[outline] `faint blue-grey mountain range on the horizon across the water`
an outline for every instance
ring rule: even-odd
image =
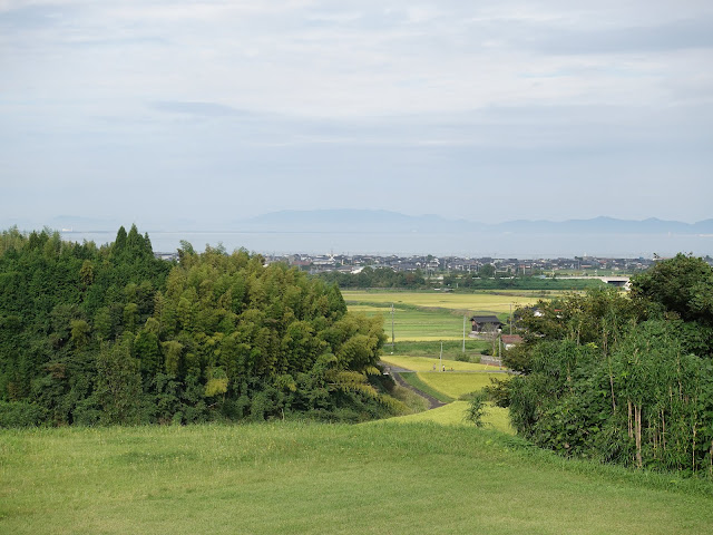
[[[231,230],[250,232],[492,232],[517,234],[713,234],[713,218],[697,223],[647,220],[528,221],[481,223],[439,215],[404,215],[384,210],[281,211],[233,222]]]

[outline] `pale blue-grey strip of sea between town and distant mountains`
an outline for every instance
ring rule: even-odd
[[[114,231],[61,231],[62,239],[97,245],[116,239]],[[222,245],[227,252],[252,253],[374,254],[381,256],[428,255],[494,259],[668,257],[676,253],[713,256],[713,234],[522,234],[522,233],[428,233],[428,232],[221,232],[150,231],[155,252],[170,253],[180,242],[195,251]]]

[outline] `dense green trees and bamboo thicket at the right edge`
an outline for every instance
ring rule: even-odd
[[[713,475],[713,269],[680,254],[632,283],[519,311],[521,374],[491,393],[541,447]]]

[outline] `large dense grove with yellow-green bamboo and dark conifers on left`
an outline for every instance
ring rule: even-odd
[[[246,251],[0,234],[0,426],[398,414],[381,319],[336,285]]]

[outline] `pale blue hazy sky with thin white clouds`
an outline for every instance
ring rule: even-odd
[[[0,220],[713,217],[710,0],[0,0]]]

